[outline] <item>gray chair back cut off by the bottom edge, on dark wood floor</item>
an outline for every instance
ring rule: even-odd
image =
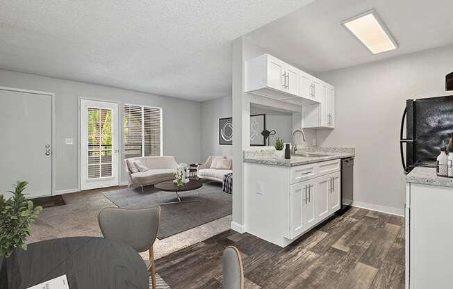
[[[229,246],[223,251],[223,289],[244,289],[244,268],[236,247]]]

